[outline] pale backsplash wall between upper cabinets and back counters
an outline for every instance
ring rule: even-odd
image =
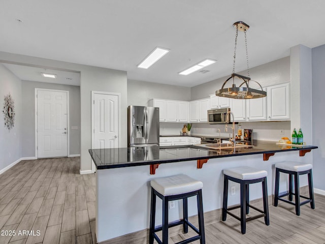
[[[185,123],[184,123],[185,124]],[[160,123],[160,135],[180,135],[183,128],[182,123]],[[253,130],[253,139],[278,141],[281,137],[291,138],[290,121],[268,121],[268,122],[241,122],[243,129]],[[193,123],[191,134],[202,136],[219,136],[217,129],[223,137],[232,136],[232,129],[225,132],[224,125],[209,125],[207,123]],[[236,134],[238,125],[235,125]],[[284,130],[284,134],[281,134]]]

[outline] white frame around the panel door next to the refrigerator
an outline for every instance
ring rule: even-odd
[[[112,92],[99,92],[96,90],[91,91],[91,149],[93,149],[94,145],[94,125],[95,125],[95,118],[94,118],[94,98],[95,94],[103,94],[103,95],[113,95],[117,96],[117,102],[118,102],[118,147],[121,147],[121,94],[120,93],[112,93]],[[94,173],[96,171],[96,167],[91,160],[91,171]]]

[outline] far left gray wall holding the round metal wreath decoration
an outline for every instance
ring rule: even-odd
[[[11,94],[15,106],[15,124],[5,127],[3,108],[5,95]],[[0,64],[0,171],[21,158],[21,80]]]

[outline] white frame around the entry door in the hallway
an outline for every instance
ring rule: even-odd
[[[37,93],[39,90],[46,90],[48,92],[60,92],[60,93],[66,93],[67,94],[67,157],[70,156],[70,111],[69,111],[69,90],[56,90],[56,89],[46,89],[46,88],[35,88],[35,158],[38,159],[38,98]]]

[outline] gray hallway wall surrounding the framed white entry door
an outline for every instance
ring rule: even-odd
[[[22,156],[35,157],[35,88],[68,90],[70,120],[70,155],[80,154],[80,88],[75,85],[22,81]],[[78,126],[78,130],[71,130]]]

